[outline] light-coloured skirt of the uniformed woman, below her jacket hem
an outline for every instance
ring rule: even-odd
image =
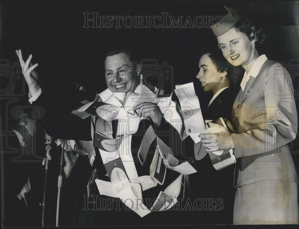
[[[298,224],[298,184],[259,181],[237,187],[234,224]]]

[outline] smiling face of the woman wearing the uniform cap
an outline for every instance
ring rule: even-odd
[[[217,37],[225,59],[234,66],[248,65],[254,59],[254,42],[234,27]]]

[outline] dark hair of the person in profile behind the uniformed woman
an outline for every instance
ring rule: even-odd
[[[208,56],[216,66],[217,71],[227,72],[226,77],[228,78],[230,87],[238,87],[240,85],[242,74],[244,74],[244,70],[241,66],[235,67],[231,65],[219,51],[211,52]]]

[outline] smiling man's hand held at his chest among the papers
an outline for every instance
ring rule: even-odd
[[[155,103],[140,103],[134,110],[139,110],[138,117],[144,117],[147,120],[152,120],[158,127],[160,126],[162,115],[160,109]]]

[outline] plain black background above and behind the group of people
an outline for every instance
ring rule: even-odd
[[[107,88],[104,55],[113,47],[129,47],[140,59],[157,59],[160,65],[167,62],[173,67],[174,84],[194,81],[196,92],[202,94],[195,78],[198,61],[202,54],[217,48],[217,40],[210,28],[83,28],[83,13],[162,16],[162,12],[167,12],[175,18],[183,16],[184,21],[187,16],[191,19],[198,15],[224,16],[227,14],[224,5],[245,13],[263,29],[266,40],[261,54],[285,62],[287,66],[292,60],[293,65],[288,70],[299,106],[298,2],[295,1],[1,4],[0,58],[13,65],[13,62],[18,62],[16,49],[22,49],[24,59],[33,54],[32,62],[39,63],[39,84],[57,111],[70,111],[78,102],[73,81],[95,93]],[[1,77],[0,80],[0,89],[3,89],[7,79]],[[168,82],[165,84],[174,88]],[[25,96],[18,98],[21,103],[29,105],[27,94],[25,85]],[[3,103],[1,109],[5,111]],[[1,115],[2,125],[10,122],[9,115],[5,117],[5,112]],[[298,139],[292,149],[298,151]],[[193,145],[190,150],[193,150]],[[294,153],[293,157],[298,168],[298,154]],[[194,222],[201,224],[200,220]],[[213,219],[210,223],[213,224]]]

